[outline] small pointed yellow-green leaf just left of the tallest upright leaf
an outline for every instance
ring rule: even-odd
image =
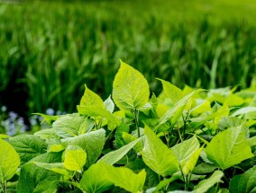
[[[86,90],[84,95],[82,96],[82,99],[80,101],[80,106],[81,107],[86,107],[86,106],[99,106],[102,108],[105,108],[104,102],[100,98],[99,95],[97,95],[95,92],[92,92],[87,88],[87,85],[85,85]]]

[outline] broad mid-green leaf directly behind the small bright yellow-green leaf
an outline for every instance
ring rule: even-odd
[[[102,128],[81,136],[69,137],[61,141],[67,146],[78,145],[82,147],[87,153],[86,166],[88,167],[96,162],[97,158],[101,154],[101,151],[105,145],[105,130]]]

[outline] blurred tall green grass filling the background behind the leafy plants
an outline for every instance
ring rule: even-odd
[[[76,110],[84,84],[106,99],[119,59],[159,93],[246,88],[256,74],[254,0],[0,1],[0,106]]]

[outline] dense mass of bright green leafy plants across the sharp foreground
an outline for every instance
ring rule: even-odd
[[[159,81],[156,96],[121,61],[105,101],[86,86],[77,113],[1,135],[2,191],[255,192],[255,80],[241,92]]]

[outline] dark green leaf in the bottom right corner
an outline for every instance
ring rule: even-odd
[[[231,193],[253,193],[256,192],[256,166],[241,175],[236,175],[230,181]]]

